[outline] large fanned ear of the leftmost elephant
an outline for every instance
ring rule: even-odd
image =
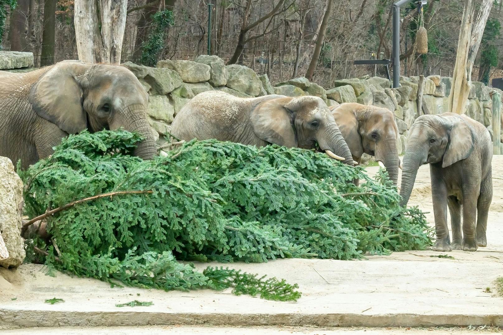
[[[82,108],[83,92],[78,76],[90,67],[76,61],[54,65],[30,90],[28,100],[35,112],[69,134],[86,129],[87,117]]]

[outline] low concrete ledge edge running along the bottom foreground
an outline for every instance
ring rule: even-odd
[[[79,312],[0,309],[4,329],[58,326],[143,326],[173,324],[204,325],[291,325],[340,327],[431,327],[503,326],[503,314],[238,314],[238,313],[163,313],[163,312]]]

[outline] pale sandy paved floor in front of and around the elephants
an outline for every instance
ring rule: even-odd
[[[186,333],[197,333],[196,330],[212,333],[211,329],[216,329],[214,333],[259,333],[253,326],[269,326],[273,327],[271,331],[263,329],[260,332],[346,334],[365,330],[366,334],[415,335],[429,330],[398,329],[398,332],[390,332],[386,329],[323,328],[323,331],[318,332],[275,326],[503,326],[503,298],[496,295],[494,285],[495,279],[503,276],[503,225],[500,223],[503,216],[503,175],[498,175],[500,169],[497,168],[502,164],[503,156],[493,158],[494,196],[487,227],[488,247],[479,248],[473,253],[454,250],[449,253],[454,260],[432,258],[430,256],[441,253],[426,250],[369,256],[366,261],[289,259],[265,264],[225,265],[298,283],[303,294],[296,303],[238,297],[229,290],[163,292],[130,287],[111,288],[109,284],[95,279],[71,278],[63,274],[45,276],[41,266],[28,264],[13,271],[0,270],[0,329],[54,325],[102,327],[186,324],[196,325],[196,328],[189,327],[192,330]],[[369,167],[368,171],[374,174],[377,169]],[[429,185],[429,167],[422,166],[410,203],[430,212],[427,217],[433,222]],[[200,264],[198,267],[207,265]],[[485,292],[486,288],[490,292]],[[45,299],[53,297],[62,298],[65,302],[55,305],[44,303]],[[14,298],[16,300],[12,300]],[[134,299],[152,301],[153,305],[115,307],[115,304]],[[224,328],[200,327],[219,324],[234,327],[226,327],[226,332],[221,332]],[[152,328],[148,332],[155,334],[156,331],[170,329],[176,334],[189,329],[184,327]],[[71,328],[69,332],[59,333],[86,333],[79,329],[83,328]],[[105,331],[100,329],[88,333],[105,333],[100,332]],[[121,332],[119,329],[124,328],[113,332],[134,333],[129,330]],[[137,333],[143,333],[150,328],[137,329],[142,329]],[[233,329],[237,330],[233,332]],[[21,332],[8,333],[41,334],[45,330],[23,329],[19,330]],[[467,333],[467,330],[459,329],[445,331],[438,333]]]

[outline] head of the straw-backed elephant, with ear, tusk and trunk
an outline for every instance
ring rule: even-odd
[[[251,111],[250,121],[255,135],[266,142],[317,148],[354,165],[351,151],[321,98],[267,96]]]

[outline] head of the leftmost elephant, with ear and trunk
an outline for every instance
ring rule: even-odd
[[[122,127],[143,137],[135,155],[150,159],[156,153],[145,112],[148,95],[123,66],[57,63],[34,83],[28,99],[40,117],[68,134]]]

